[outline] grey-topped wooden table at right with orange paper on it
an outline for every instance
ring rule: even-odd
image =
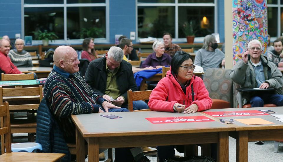
[[[243,110],[272,110],[283,114],[283,107],[254,107],[254,108],[239,108],[239,109],[210,109],[205,112],[213,111],[243,111]],[[226,116],[217,117],[218,119],[233,119],[234,124],[228,124],[236,128],[236,132],[229,132],[229,135],[236,139],[236,161],[248,161],[248,141],[265,141],[265,140],[282,140],[283,139],[283,122],[280,122],[271,115],[260,116]],[[235,119],[246,118],[261,118],[275,124],[261,124],[261,125],[246,125]]]

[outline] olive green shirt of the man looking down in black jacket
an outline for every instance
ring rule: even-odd
[[[107,79],[106,79],[105,94],[112,97],[113,99],[117,99],[119,96],[121,96],[121,93],[120,93],[120,90],[119,90],[119,87],[116,81],[116,78],[117,78],[116,73],[119,68],[120,66],[118,68],[115,68],[114,70],[110,70],[106,63]],[[122,97],[124,99],[124,96]]]

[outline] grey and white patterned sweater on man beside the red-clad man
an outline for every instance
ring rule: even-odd
[[[22,50],[22,52],[18,52],[16,49],[10,50],[8,56],[18,68],[32,67],[32,56],[25,50]]]

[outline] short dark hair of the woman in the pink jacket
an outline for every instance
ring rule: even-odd
[[[177,51],[171,60],[171,73],[177,74],[179,67],[185,60],[192,59],[192,56],[184,51]],[[192,59],[192,62],[194,60]]]

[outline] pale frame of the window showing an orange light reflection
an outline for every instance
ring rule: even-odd
[[[178,8],[179,6],[195,6],[195,7],[214,7],[214,32],[218,32],[218,4],[217,0],[214,0],[214,3],[178,3],[178,0],[175,0],[175,3],[140,3],[136,0],[136,42],[139,42],[139,32],[138,32],[138,7],[139,6],[175,6],[175,38],[172,39],[173,42],[187,42],[186,38],[179,38],[178,31]],[[195,37],[195,42],[203,42],[204,37]],[[157,38],[158,40],[162,40],[162,38]]]

